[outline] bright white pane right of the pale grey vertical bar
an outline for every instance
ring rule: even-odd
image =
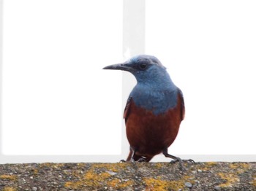
[[[185,98],[173,153],[256,154],[255,10],[255,1],[146,1],[146,53]]]

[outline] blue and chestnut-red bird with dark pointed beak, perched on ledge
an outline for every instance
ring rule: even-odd
[[[154,55],[135,55],[103,69],[129,71],[137,80],[124,109],[130,150],[126,161],[149,162],[162,153],[171,162],[178,161],[183,170],[183,160],[167,149],[184,120],[184,96],[165,66]]]

